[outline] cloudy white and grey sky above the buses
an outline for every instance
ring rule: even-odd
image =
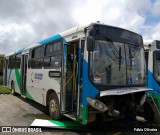
[[[96,21],[160,40],[160,0],[0,0],[0,54]]]

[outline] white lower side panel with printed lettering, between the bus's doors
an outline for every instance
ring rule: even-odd
[[[54,69],[28,69],[27,91],[33,100],[46,106],[48,90],[54,90],[60,99],[60,78],[49,78]],[[59,70],[56,70],[59,71]]]

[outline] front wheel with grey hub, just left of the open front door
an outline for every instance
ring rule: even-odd
[[[53,119],[55,120],[60,119],[61,117],[60,106],[59,106],[58,97],[55,93],[51,93],[49,97],[48,109],[49,109],[49,114]]]

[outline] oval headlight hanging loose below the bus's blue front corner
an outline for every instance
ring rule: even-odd
[[[107,106],[97,99],[92,99],[90,97],[87,97],[87,101],[93,108],[95,108],[101,112],[105,112],[108,110]]]

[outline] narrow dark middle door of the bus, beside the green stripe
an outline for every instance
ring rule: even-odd
[[[23,54],[22,66],[21,66],[21,90],[23,95],[26,94],[27,61],[28,61],[28,54]]]

